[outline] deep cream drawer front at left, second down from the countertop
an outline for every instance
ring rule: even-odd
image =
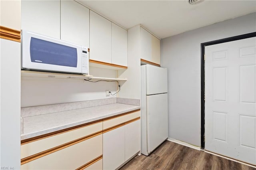
[[[102,134],[21,165],[21,169],[70,170],[102,155]]]

